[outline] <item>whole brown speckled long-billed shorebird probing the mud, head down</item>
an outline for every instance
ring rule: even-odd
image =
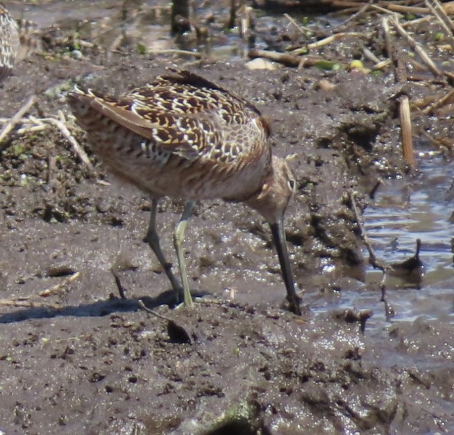
[[[270,126],[253,104],[188,71],[160,76],[120,98],[75,88],[67,95],[95,154],[151,197],[146,240],[179,300],[192,306],[182,243],[197,200],[244,202],[269,223],[290,311],[301,314],[287,254],[284,214],[295,189],[287,162],[273,156]],[[156,231],[158,200],[185,199],[174,231],[180,277]]]

